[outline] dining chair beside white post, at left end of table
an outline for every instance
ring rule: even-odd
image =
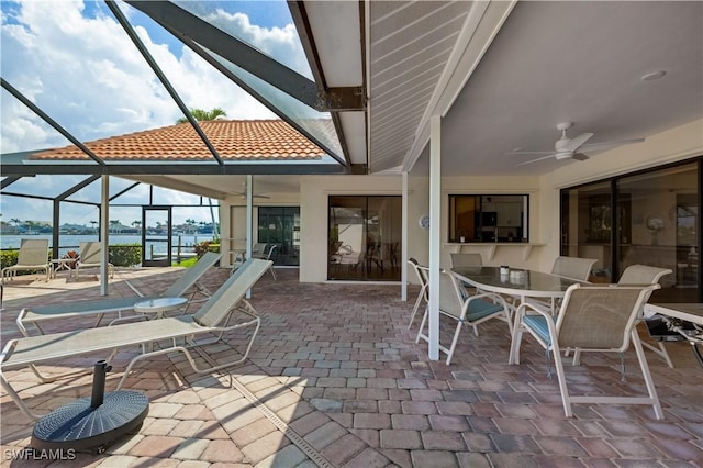
[[[428,293],[432,293],[432,291],[428,291]],[[428,312],[428,308],[425,308],[415,343],[420,343],[420,339],[429,342],[429,337],[423,334]],[[513,332],[507,304],[500,294],[483,292],[469,296],[461,281],[451,271],[444,269],[439,271],[439,314],[457,321],[449,347],[447,348],[439,343],[439,350],[447,355],[447,365],[451,363],[462,326],[473,327],[473,333],[478,335],[479,324],[500,317],[507,322],[507,330],[511,335]]]

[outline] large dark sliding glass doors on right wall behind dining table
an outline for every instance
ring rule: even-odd
[[[656,302],[700,302],[701,160],[561,191],[561,255],[598,259],[592,280],[631,265],[671,270]]]

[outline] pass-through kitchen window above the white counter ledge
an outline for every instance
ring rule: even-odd
[[[529,196],[450,194],[448,242],[528,242]]]

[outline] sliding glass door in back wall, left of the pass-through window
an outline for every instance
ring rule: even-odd
[[[333,196],[328,205],[327,278],[400,280],[400,197]]]

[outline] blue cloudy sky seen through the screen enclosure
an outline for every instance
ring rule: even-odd
[[[202,5],[208,11],[192,12],[205,15],[209,21],[310,78],[304,52],[283,0],[175,3],[189,10]],[[210,110],[219,107],[228,119],[277,119],[148,16],[126,3],[118,2],[118,5],[188,108]],[[2,0],[0,13],[2,78],[78,140],[89,142],[163,127],[183,116],[103,1]],[[0,153],[69,144],[8,91],[2,89],[0,92]],[[65,190],[64,187],[70,187],[65,180],[54,180],[62,178],[64,176],[45,177],[41,183],[27,182],[24,188],[11,185],[8,190],[55,196]],[[76,176],[74,179],[83,178]],[[148,197],[146,190],[146,187],[134,189],[120,201],[143,203]],[[176,204],[193,199],[169,192]],[[74,198],[100,200],[100,183],[92,183]],[[198,197],[194,199],[199,200]],[[88,216],[86,210],[74,203],[63,204],[62,223],[82,223],[80,220]],[[196,215],[197,221],[210,221],[209,210],[178,211],[180,214],[176,219],[175,213],[175,223]],[[5,222],[11,219],[51,221],[51,202],[2,197],[0,213]]]

